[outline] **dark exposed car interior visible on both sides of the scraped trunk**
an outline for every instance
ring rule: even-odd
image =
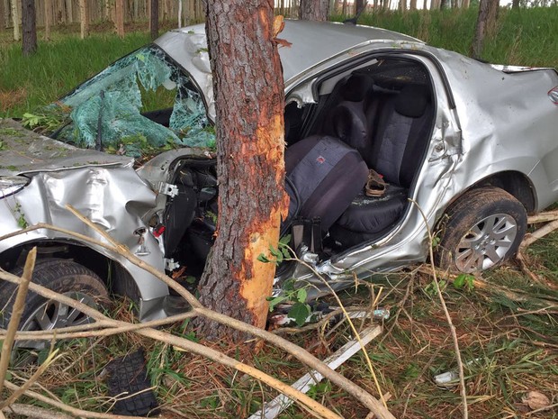
[[[291,196],[283,234],[305,244],[320,260],[375,241],[399,223],[428,149],[435,102],[428,70],[417,60],[374,59],[318,82],[317,101],[285,107],[285,188]],[[385,187],[367,196],[374,169]],[[217,179],[206,163],[184,162],[175,185],[195,191],[192,217],[170,205],[166,257],[184,260],[198,276],[213,241]],[[186,194],[187,195],[187,194]],[[171,237],[172,236],[172,237]],[[183,240],[181,238],[185,238]]]

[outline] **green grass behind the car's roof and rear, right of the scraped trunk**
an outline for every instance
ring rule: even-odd
[[[402,32],[435,47],[469,55],[478,9],[379,11],[358,23]],[[344,16],[334,20],[343,21]],[[487,37],[482,59],[500,64],[558,68],[558,6],[500,9],[496,33]]]

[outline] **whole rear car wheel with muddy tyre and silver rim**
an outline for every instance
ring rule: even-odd
[[[498,266],[515,254],[526,230],[526,209],[514,196],[499,187],[473,189],[446,212],[437,265],[465,273]]]

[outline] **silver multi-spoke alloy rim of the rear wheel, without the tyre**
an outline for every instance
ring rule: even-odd
[[[455,250],[455,266],[462,272],[489,269],[500,263],[518,236],[518,223],[509,214],[493,214],[476,223]]]

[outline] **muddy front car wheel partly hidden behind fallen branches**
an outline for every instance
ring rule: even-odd
[[[21,275],[23,269],[14,271]],[[33,270],[32,282],[70,296],[94,308],[106,305],[109,301],[103,280],[93,271],[71,260],[44,260],[38,262]],[[4,282],[0,286],[0,307],[3,307],[2,325],[7,327],[16,286]],[[92,323],[93,319],[69,305],[48,300],[29,291],[25,299],[19,329],[23,331],[46,331],[61,327]],[[47,348],[46,341],[16,341],[12,353],[12,364],[24,366],[37,360],[40,351]]]

